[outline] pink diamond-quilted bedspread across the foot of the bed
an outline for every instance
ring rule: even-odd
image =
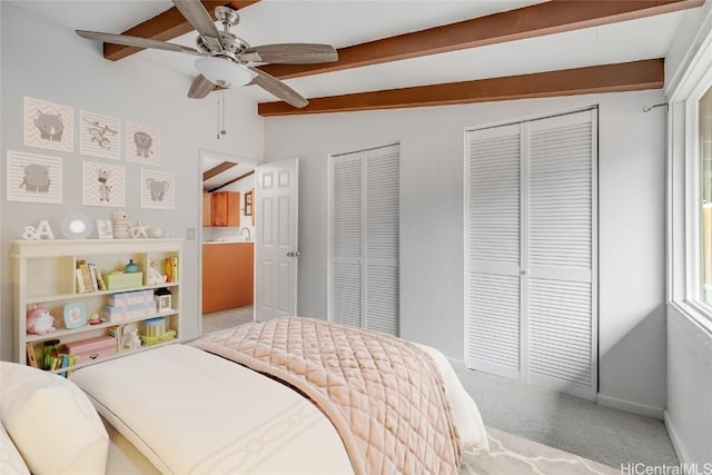
[[[192,346],[296,387],[338,431],[357,474],[456,474],[452,405],[431,357],[405,340],[324,320],[278,318]]]

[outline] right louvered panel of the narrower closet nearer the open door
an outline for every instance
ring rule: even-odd
[[[398,146],[366,152],[365,327],[398,335]]]

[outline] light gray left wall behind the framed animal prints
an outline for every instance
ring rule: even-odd
[[[240,91],[228,91],[226,97],[227,127],[235,131],[216,140],[216,102],[191,100],[186,93],[191,79],[137,57],[118,62],[105,60],[98,42],[87,41],[63,27],[31,16],[8,2],[1,9],[1,101],[2,137],[1,177],[4,177],[7,150],[21,150],[62,157],[63,202],[38,205],[7,201],[4,178],[0,179],[0,253],[2,307],[0,326],[2,340],[0,357],[12,358],[12,286],[9,256],[10,239],[20,238],[24,226],[47,219],[56,236],[60,222],[69,212],[82,212],[92,219],[109,218],[113,208],[87,207],[81,204],[82,160],[102,161],[82,157],[75,137],[73,154],[51,152],[22,145],[22,101],[24,96],[75,108],[75,128],[79,110],[118,117],[156,127],[161,135],[161,171],[176,176],[175,211],[140,209],[137,195],[140,169],[125,159],[117,162],[127,171],[126,209],[130,219],[141,218],[144,224],[176,230],[185,238],[187,228],[199,231],[201,206],[201,174],[198,149],[239,155],[257,161],[263,158],[264,125],[251,101],[240,98]],[[239,132],[238,132],[239,131]],[[146,167],[156,168],[156,167]],[[96,236],[96,235],[95,235]],[[182,263],[184,314],[186,337],[199,333],[198,240],[185,244]],[[194,290],[191,290],[194,289]]]

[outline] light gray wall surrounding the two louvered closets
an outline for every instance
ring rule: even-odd
[[[600,393],[662,414],[665,117],[660,91],[269,118],[266,160],[300,158],[303,316],[327,316],[329,154],[400,142],[402,336],[463,359],[464,130],[600,106]]]

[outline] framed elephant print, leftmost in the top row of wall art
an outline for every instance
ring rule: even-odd
[[[75,109],[24,97],[24,145],[56,151],[75,151]]]

